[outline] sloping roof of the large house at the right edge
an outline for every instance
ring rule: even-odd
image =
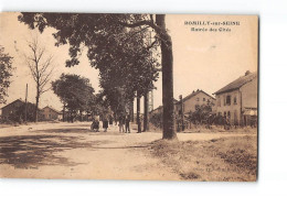
[[[235,89],[240,89],[242,86],[252,81],[255,78],[257,78],[257,72],[256,73],[246,72],[246,74],[244,76],[237,78],[236,80],[233,80],[228,85],[226,85],[223,88],[221,88],[220,90],[215,91],[214,95],[220,95],[223,92],[228,92],[228,91],[233,91]]]

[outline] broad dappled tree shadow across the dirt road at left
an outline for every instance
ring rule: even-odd
[[[0,138],[0,164],[10,164],[15,168],[40,165],[74,166],[82,163],[72,162],[57,153],[77,147],[93,149],[95,145],[108,143],[106,141],[83,142],[81,140],[81,136],[53,134],[3,136]]]

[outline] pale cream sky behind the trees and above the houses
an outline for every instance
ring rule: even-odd
[[[54,46],[52,33],[54,29],[46,29],[43,34],[29,30],[18,21],[19,13],[1,13],[0,15],[0,45],[4,52],[13,56],[14,73],[9,88],[7,103],[18,98],[24,99],[25,85],[29,85],[28,100],[35,102],[35,84],[24,63],[23,54],[28,53],[26,42],[33,36],[45,47],[47,54],[54,56],[54,72],[52,80],[62,73],[77,74],[89,78],[96,92],[98,87],[98,70],[89,66],[86,50],[79,58],[79,65],[67,68],[68,45]],[[172,39],[173,50],[173,89],[174,98],[183,97],[192,90],[202,89],[212,95],[232,80],[243,76],[246,70],[257,70],[257,18],[247,15],[185,15],[167,14],[167,29]],[[240,21],[240,25],[184,25],[185,21]],[[195,32],[191,28],[230,28],[231,32]],[[162,105],[161,74],[155,84],[153,108]],[[141,99],[142,102],[144,99]],[[60,99],[52,90],[42,95],[40,107],[52,106],[61,109]],[[3,107],[0,106],[0,107]],[[142,109],[142,108],[141,108]]]

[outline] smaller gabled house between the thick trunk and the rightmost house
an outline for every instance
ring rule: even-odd
[[[182,98],[183,102],[183,114],[188,112],[194,112],[198,106],[211,103],[211,106],[215,106],[215,99],[206,94],[205,91],[198,89],[196,91],[192,91],[187,97]],[[214,111],[215,108],[212,108]],[[177,102],[176,106],[177,114],[181,114],[181,101]]]

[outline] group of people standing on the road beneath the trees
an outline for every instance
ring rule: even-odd
[[[107,132],[108,124],[113,125],[113,122],[114,122],[114,118],[111,116],[106,116],[106,114],[103,116],[104,132]],[[118,117],[118,121],[115,120],[115,122],[116,122],[116,125],[117,125],[117,122],[118,122],[118,128],[119,128],[120,133],[130,133],[130,127],[129,127],[130,117],[129,117],[129,114],[127,114],[127,116],[120,114]],[[93,117],[93,123],[91,125],[91,130],[95,130],[96,132],[99,132],[99,116],[98,114]]]

